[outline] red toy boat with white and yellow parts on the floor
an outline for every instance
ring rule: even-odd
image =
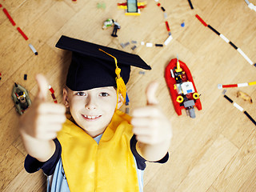
[[[194,106],[202,110],[202,105],[189,68],[174,58],[166,66],[165,78],[176,113],[181,115],[186,109],[186,114],[195,118]]]

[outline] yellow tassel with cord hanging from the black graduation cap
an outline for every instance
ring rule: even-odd
[[[110,57],[114,58],[114,63],[116,66],[115,69],[115,74],[117,75],[117,78],[115,78],[115,82],[117,83],[117,106],[118,106],[118,98],[119,98],[119,94],[122,95],[122,98],[124,99],[123,103],[126,103],[126,84],[123,81],[120,73],[121,73],[121,69],[118,67],[118,60],[117,58],[115,58],[113,55],[106,53],[106,51],[102,50],[102,49],[98,49],[100,51],[102,51],[103,53],[109,55]]]

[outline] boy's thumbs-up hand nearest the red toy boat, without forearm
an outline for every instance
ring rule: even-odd
[[[151,82],[146,89],[147,105],[133,111],[131,124],[138,142],[155,145],[170,141],[172,128],[166,115],[160,110],[155,97],[157,82]]]

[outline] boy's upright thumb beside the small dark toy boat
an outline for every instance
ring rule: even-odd
[[[48,82],[42,74],[37,74],[35,77],[36,81],[38,82],[38,94],[37,98],[46,101],[47,91],[48,91]]]

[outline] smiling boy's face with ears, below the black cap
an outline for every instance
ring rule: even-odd
[[[63,99],[74,121],[94,138],[110,124],[117,105],[117,92],[113,86],[84,91],[64,88]],[[118,107],[121,106],[122,101],[118,101]]]

